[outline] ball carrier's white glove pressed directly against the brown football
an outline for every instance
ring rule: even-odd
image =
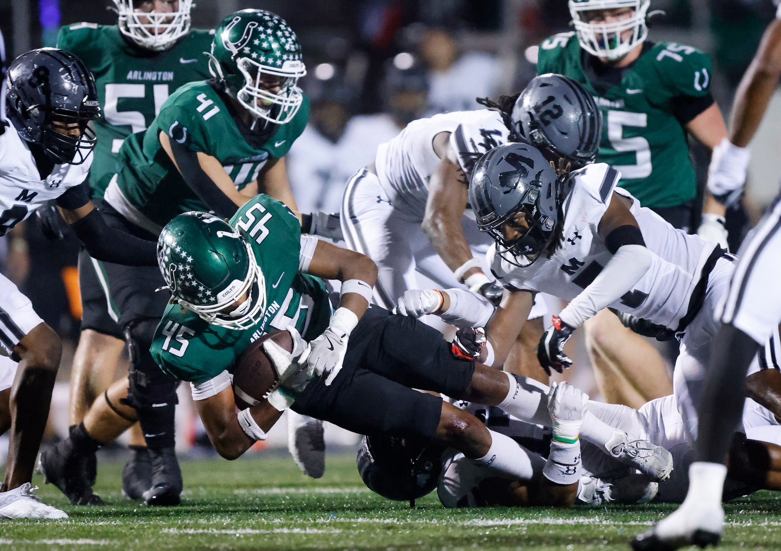
[[[276,383],[264,397],[279,411],[291,407],[295,394],[301,393],[309,382],[308,373],[302,365],[309,354],[309,347],[293,326],[288,327],[287,332],[293,339],[292,352],[288,352],[271,339],[263,343],[263,351],[276,371]]]

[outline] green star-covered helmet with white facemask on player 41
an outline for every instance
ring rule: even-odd
[[[219,23],[209,71],[256,119],[291,122],[304,95],[301,44],[285,20],[262,9],[242,9]],[[278,91],[276,89],[278,88]]]

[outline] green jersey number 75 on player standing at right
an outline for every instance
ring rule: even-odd
[[[684,123],[712,104],[710,57],[675,42],[646,41],[633,64],[613,82],[595,78],[575,32],[540,44],[537,73],[577,80],[602,112],[597,162],[621,171],[619,186],[644,207],[673,207],[697,194]],[[694,116],[688,116],[694,113]]]

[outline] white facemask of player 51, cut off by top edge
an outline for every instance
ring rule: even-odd
[[[190,30],[192,0],[179,0],[175,12],[143,12],[141,5],[154,0],[114,0],[119,31],[142,48],[167,50]]]

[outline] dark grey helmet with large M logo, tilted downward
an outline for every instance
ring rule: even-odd
[[[511,142],[488,151],[475,164],[469,182],[469,203],[477,227],[494,238],[497,253],[521,268],[545,251],[562,219],[560,180],[550,162],[531,144]],[[520,236],[502,231],[508,222],[525,218]]]

